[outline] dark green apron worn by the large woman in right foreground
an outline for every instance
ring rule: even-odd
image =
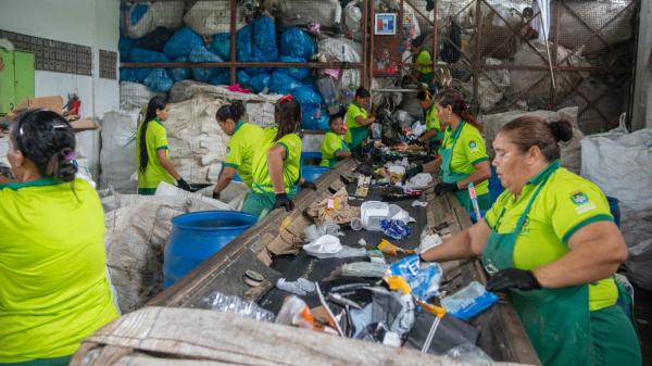
[[[498,234],[494,228],[491,228],[481,255],[482,265],[489,275],[514,267],[516,239],[546,180],[536,188],[514,231]],[[503,214],[504,209],[496,227]],[[510,295],[543,365],[594,364],[587,285],[531,291],[510,290]]]

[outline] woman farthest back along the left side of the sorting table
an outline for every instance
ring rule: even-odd
[[[369,116],[366,108],[369,104],[369,92],[365,88],[355,90],[355,100],[347,110],[347,136],[344,141],[351,151],[360,151],[362,142],[369,135],[369,125],[376,122],[375,116]]]

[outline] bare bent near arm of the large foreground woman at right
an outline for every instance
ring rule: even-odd
[[[568,240],[570,252],[534,270],[543,288],[589,283],[613,275],[627,260],[627,245],[611,222],[589,224]]]

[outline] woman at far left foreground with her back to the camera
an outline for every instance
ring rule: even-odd
[[[120,316],[102,204],[76,178],[75,134],[54,112],[18,115],[8,159],[15,179],[0,185],[0,364],[67,365]]]

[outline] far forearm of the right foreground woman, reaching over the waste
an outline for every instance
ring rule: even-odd
[[[484,219],[480,219],[441,245],[422,253],[421,256],[428,262],[448,262],[478,256],[485,250],[489,232],[489,226]]]

